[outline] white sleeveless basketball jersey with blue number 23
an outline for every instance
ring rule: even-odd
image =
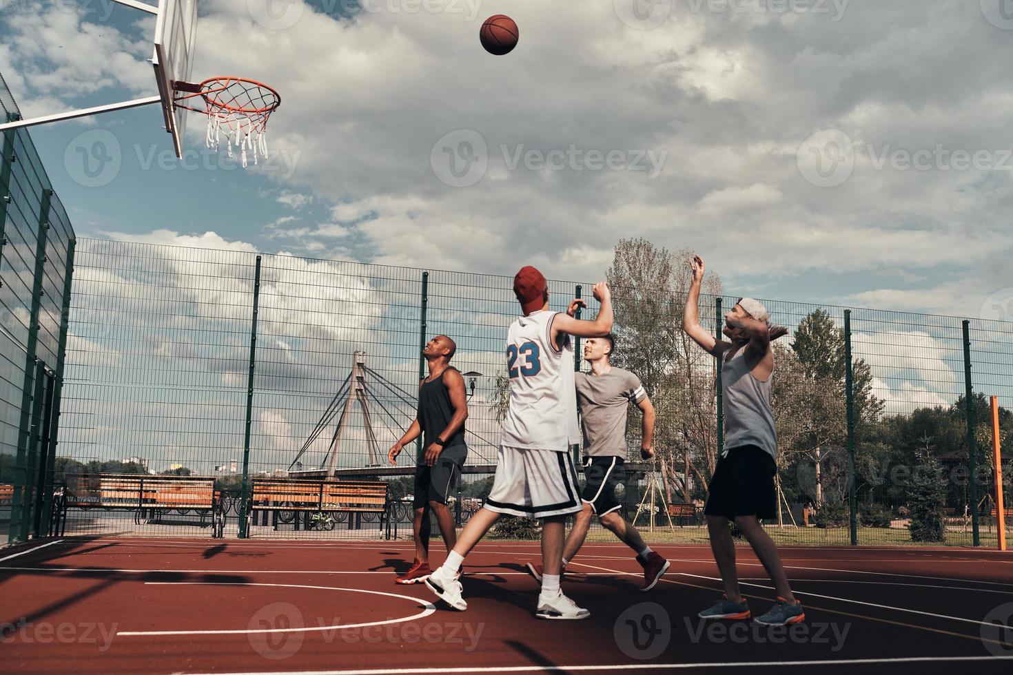
[[[503,445],[559,452],[580,442],[573,341],[562,334],[563,348],[552,344],[552,321],[558,314],[543,310],[521,317],[506,334],[510,410]]]

